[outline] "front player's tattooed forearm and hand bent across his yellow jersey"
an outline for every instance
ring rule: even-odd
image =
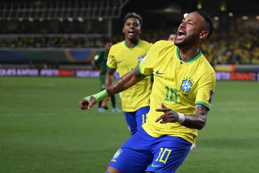
[[[164,112],[163,115],[158,117],[155,122],[160,121],[160,123],[168,123],[168,122],[178,122],[179,115],[177,112],[174,112],[172,109],[167,108],[164,106],[163,103],[161,103],[161,107],[159,109],[156,109],[157,112]],[[207,113],[208,109],[203,105],[195,105],[195,114],[192,115],[185,115],[184,114],[184,122],[181,124],[182,126],[188,127],[188,128],[194,128],[201,130],[207,121]]]

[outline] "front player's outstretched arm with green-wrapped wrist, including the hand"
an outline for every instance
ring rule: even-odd
[[[78,107],[80,109],[91,109],[93,105],[104,98],[107,98],[111,95],[117,94],[119,92],[125,91],[126,89],[132,87],[146,76],[140,74],[139,68],[136,67],[133,71],[124,74],[119,80],[117,80],[114,84],[109,86],[106,90],[94,94],[92,96],[88,96],[87,100],[84,98],[78,103]]]

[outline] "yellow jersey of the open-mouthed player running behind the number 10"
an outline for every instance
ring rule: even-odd
[[[140,40],[133,48],[129,48],[125,41],[112,45],[107,67],[119,72],[119,76],[132,71],[138,66],[152,43]],[[149,106],[152,82],[150,77],[141,80],[138,84],[122,92],[121,103],[124,112],[134,112],[141,107]]]

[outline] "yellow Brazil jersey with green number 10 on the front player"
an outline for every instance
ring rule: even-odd
[[[178,136],[194,143],[197,129],[179,123],[156,123],[155,120],[163,112],[156,112],[155,109],[161,108],[161,102],[175,112],[187,115],[195,113],[196,104],[210,109],[216,76],[203,54],[199,52],[184,62],[174,42],[161,40],[149,49],[139,63],[139,70],[143,75],[154,74],[150,111],[146,123],[142,125],[144,130],[153,137]]]

